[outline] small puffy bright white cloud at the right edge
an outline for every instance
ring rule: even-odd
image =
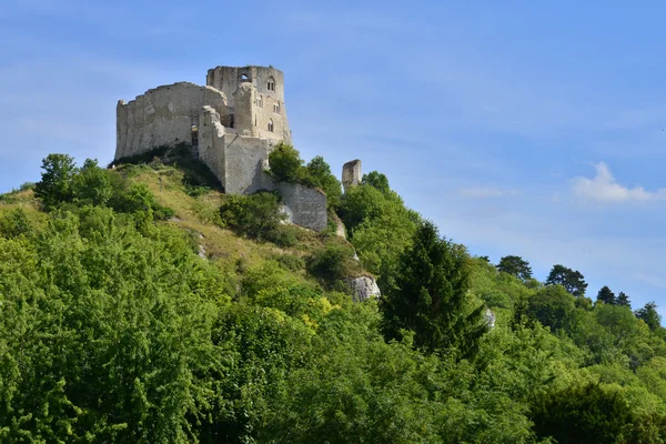
[[[666,199],[666,189],[650,192],[643,186],[627,188],[617,183],[608,165],[599,162],[594,165],[594,179],[576,178],[573,180],[574,195],[586,201],[596,202],[645,202]]]

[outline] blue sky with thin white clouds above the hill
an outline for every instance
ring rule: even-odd
[[[555,263],[666,315],[666,4],[41,1],[0,6],[0,192],[107,163],[115,103],[273,64],[303,158],[362,159],[473,254]]]

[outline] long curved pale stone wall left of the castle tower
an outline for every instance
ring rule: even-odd
[[[199,124],[202,107],[226,114],[224,94],[211,87],[180,82],[159,87],[117,107],[115,159],[154,148],[192,143],[192,127]]]

